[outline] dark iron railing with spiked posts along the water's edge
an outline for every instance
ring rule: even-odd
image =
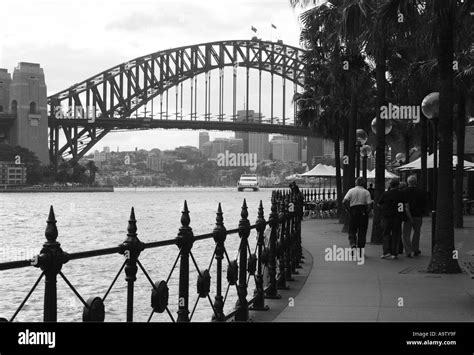
[[[216,214],[215,228],[211,233],[194,236],[190,226],[190,216],[187,202],[181,215],[181,227],[176,238],[143,243],[137,237],[137,220],[134,208],[131,210],[128,221],[127,237],[118,246],[90,250],[76,253],[66,253],[58,243],[58,230],[53,206],[49,211],[47,227],[45,231],[46,242],[39,255],[31,260],[11,261],[0,263],[0,271],[14,270],[28,267],[36,267],[41,270],[39,277],[33,284],[31,290],[20,303],[10,319],[2,318],[0,321],[13,322],[18,313],[23,309],[26,302],[33,294],[39,283],[44,278],[44,307],[43,321],[56,322],[58,316],[57,279],[58,275],[67,286],[74,292],[75,296],[83,305],[82,320],[84,322],[103,322],[105,320],[105,301],[110,291],[116,284],[122,272],[125,273],[127,285],[127,308],[126,321],[134,320],[134,296],[135,281],[138,269],[140,269],[151,285],[151,314],[148,322],[155,313],[167,313],[172,322],[191,321],[199,299],[207,299],[212,307],[213,321],[248,321],[249,310],[267,310],[266,298],[279,298],[278,289],[286,289],[287,282],[292,280],[292,275],[297,273],[297,268],[302,262],[301,247],[301,221],[303,218],[303,197],[301,194],[290,194],[289,192],[273,191],[271,200],[271,213],[268,221],[264,218],[263,203],[260,201],[256,223],[251,225],[248,220],[247,202],[244,200],[241,208],[241,219],[238,228],[227,230],[221,204],[219,203]],[[267,226],[269,233],[265,233]],[[255,252],[252,253],[248,243],[251,231],[257,232],[257,244]],[[226,250],[226,238],[238,235],[240,246],[237,260],[231,260]],[[213,239],[215,248],[212,253],[209,267],[201,270],[193,255],[194,243]],[[166,280],[154,282],[142,262],[140,255],[144,250],[162,248],[176,245],[178,255]],[[88,259],[98,256],[120,254],[125,260],[106,293],[102,297],[90,297],[87,301],[78,292],[76,287],[62,272],[64,264],[80,259]],[[223,288],[223,260],[227,261],[227,290],[224,294]],[[173,271],[177,268],[179,261],[179,285],[178,285],[178,311],[177,318],[173,317],[168,308],[169,288],[168,282]],[[210,296],[211,276],[210,268],[216,263],[215,297]],[[194,266],[198,274],[196,283],[197,298],[193,310],[190,312],[190,264]],[[264,269],[267,272],[267,285],[264,287]],[[255,279],[255,291],[251,300],[247,300],[248,285],[250,277]],[[229,288],[235,286],[237,290],[237,302],[235,309],[229,314],[224,314],[224,305],[227,300]],[[191,313],[191,315],[190,315]]]

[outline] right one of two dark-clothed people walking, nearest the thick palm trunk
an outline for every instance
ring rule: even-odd
[[[416,186],[416,176],[408,177],[408,187],[405,189],[406,202],[410,205],[410,214],[412,220],[405,221],[403,224],[403,245],[405,246],[406,256],[411,258],[412,253],[415,256],[421,254],[420,251],[420,230],[423,224],[423,215],[428,200],[425,191]],[[413,237],[410,239],[411,230]]]

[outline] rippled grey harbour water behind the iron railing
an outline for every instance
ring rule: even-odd
[[[191,212],[194,235],[209,233],[215,226],[217,205],[222,203],[224,223],[227,229],[237,228],[243,199],[247,199],[249,220],[257,219],[258,205],[263,201],[265,218],[270,213],[270,189],[258,192],[237,192],[236,188],[147,188],[116,189],[114,193],[41,193],[0,195],[0,262],[24,260],[37,255],[45,241],[44,230],[49,206],[54,206],[58,241],[65,252],[115,247],[126,237],[131,207],[135,207],[138,238],[143,242],[173,239],[180,227],[181,210],[187,200]],[[228,236],[226,248],[231,260],[237,258],[239,236]],[[256,232],[249,237],[251,250],[255,249]],[[201,270],[209,267],[214,251],[214,241],[196,242],[192,252]],[[166,280],[178,256],[173,245],[145,250],[140,256],[153,281]],[[124,262],[121,255],[109,255],[73,260],[62,271],[84,299],[102,297]],[[224,278],[227,262],[224,261]],[[178,263],[179,266],[179,263]],[[197,299],[197,272],[190,264],[190,310]],[[1,271],[0,317],[10,319],[40,275],[34,267]],[[211,299],[215,295],[215,261],[211,267]],[[169,279],[169,309],[176,318],[177,285],[179,268]],[[227,283],[224,281],[224,285]],[[145,322],[151,313],[151,285],[141,270],[135,284],[134,320]],[[254,282],[250,280],[251,298]],[[225,289],[224,289],[225,291]],[[42,321],[43,281],[16,317],[15,321]],[[235,287],[231,287],[225,312],[233,310],[237,299]],[[124,273],[118,278],[105,301],[106,321],[123,322],[126,316],[126,283]],[[80,322],[82,303],[58,277],[58,321]],[[200,299],[193,321],[209,321],[212,308],[207,299]],[[169,321],[166,313],[155,314],[152,321]]]

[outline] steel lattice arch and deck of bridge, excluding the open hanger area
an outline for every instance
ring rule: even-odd
[[[304,52],[280,41],[233,40],[163,50],[117,65],[48,97],[50,159],[57,163],[61,158],[72,156],[72,160],[77,161],[112,130],[177,128],[309,136],[308,129],[294,123],[288,125],[284,120],[283,124],[273,121],[265,124],[261,121],[198,121],[192,116],[191,120],[131,118],[140,107],[181,82],[237,63],[240,67],[266,71],[303,86]],[[58,107],[65,106],[73,107],[73,112],[76,107],[95,107],[97,118],[89,123],[86,119],[58,116]],[[66,139],[62,145],[60,129]]]

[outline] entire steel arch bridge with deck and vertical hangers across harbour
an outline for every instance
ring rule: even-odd
[[[304,86],[304,53],[253,38],[167,49],[119,64],[47,98],[49,160],[78,161],[117,131],[311,136],[296,122],[292,100]],[[250,117],[250,108],[257,115]]]

